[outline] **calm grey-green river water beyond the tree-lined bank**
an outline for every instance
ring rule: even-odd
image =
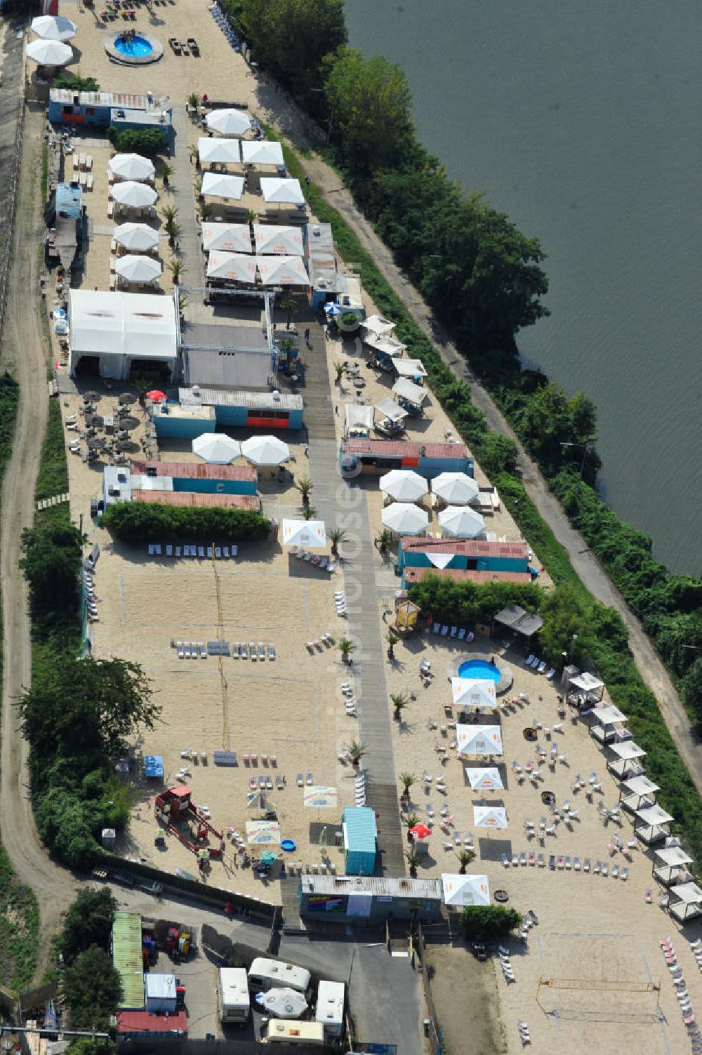
[[[599,410],[603,495],[702,572],[699,0],[347,0],[404,69],[426,148],[537,235],[526,362]]]

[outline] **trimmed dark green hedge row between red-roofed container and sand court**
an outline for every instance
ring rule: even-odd
[[[270,530],[270,521],[250,510],[160,502],[115,502],[102,514],[101,523],[129,545],[182,539],[255,542],[266,538]]]

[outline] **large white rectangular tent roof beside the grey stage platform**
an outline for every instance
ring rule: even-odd
[[[170,296],[71,289],[69,321],[74,351],[175,359],[175,307]]]

